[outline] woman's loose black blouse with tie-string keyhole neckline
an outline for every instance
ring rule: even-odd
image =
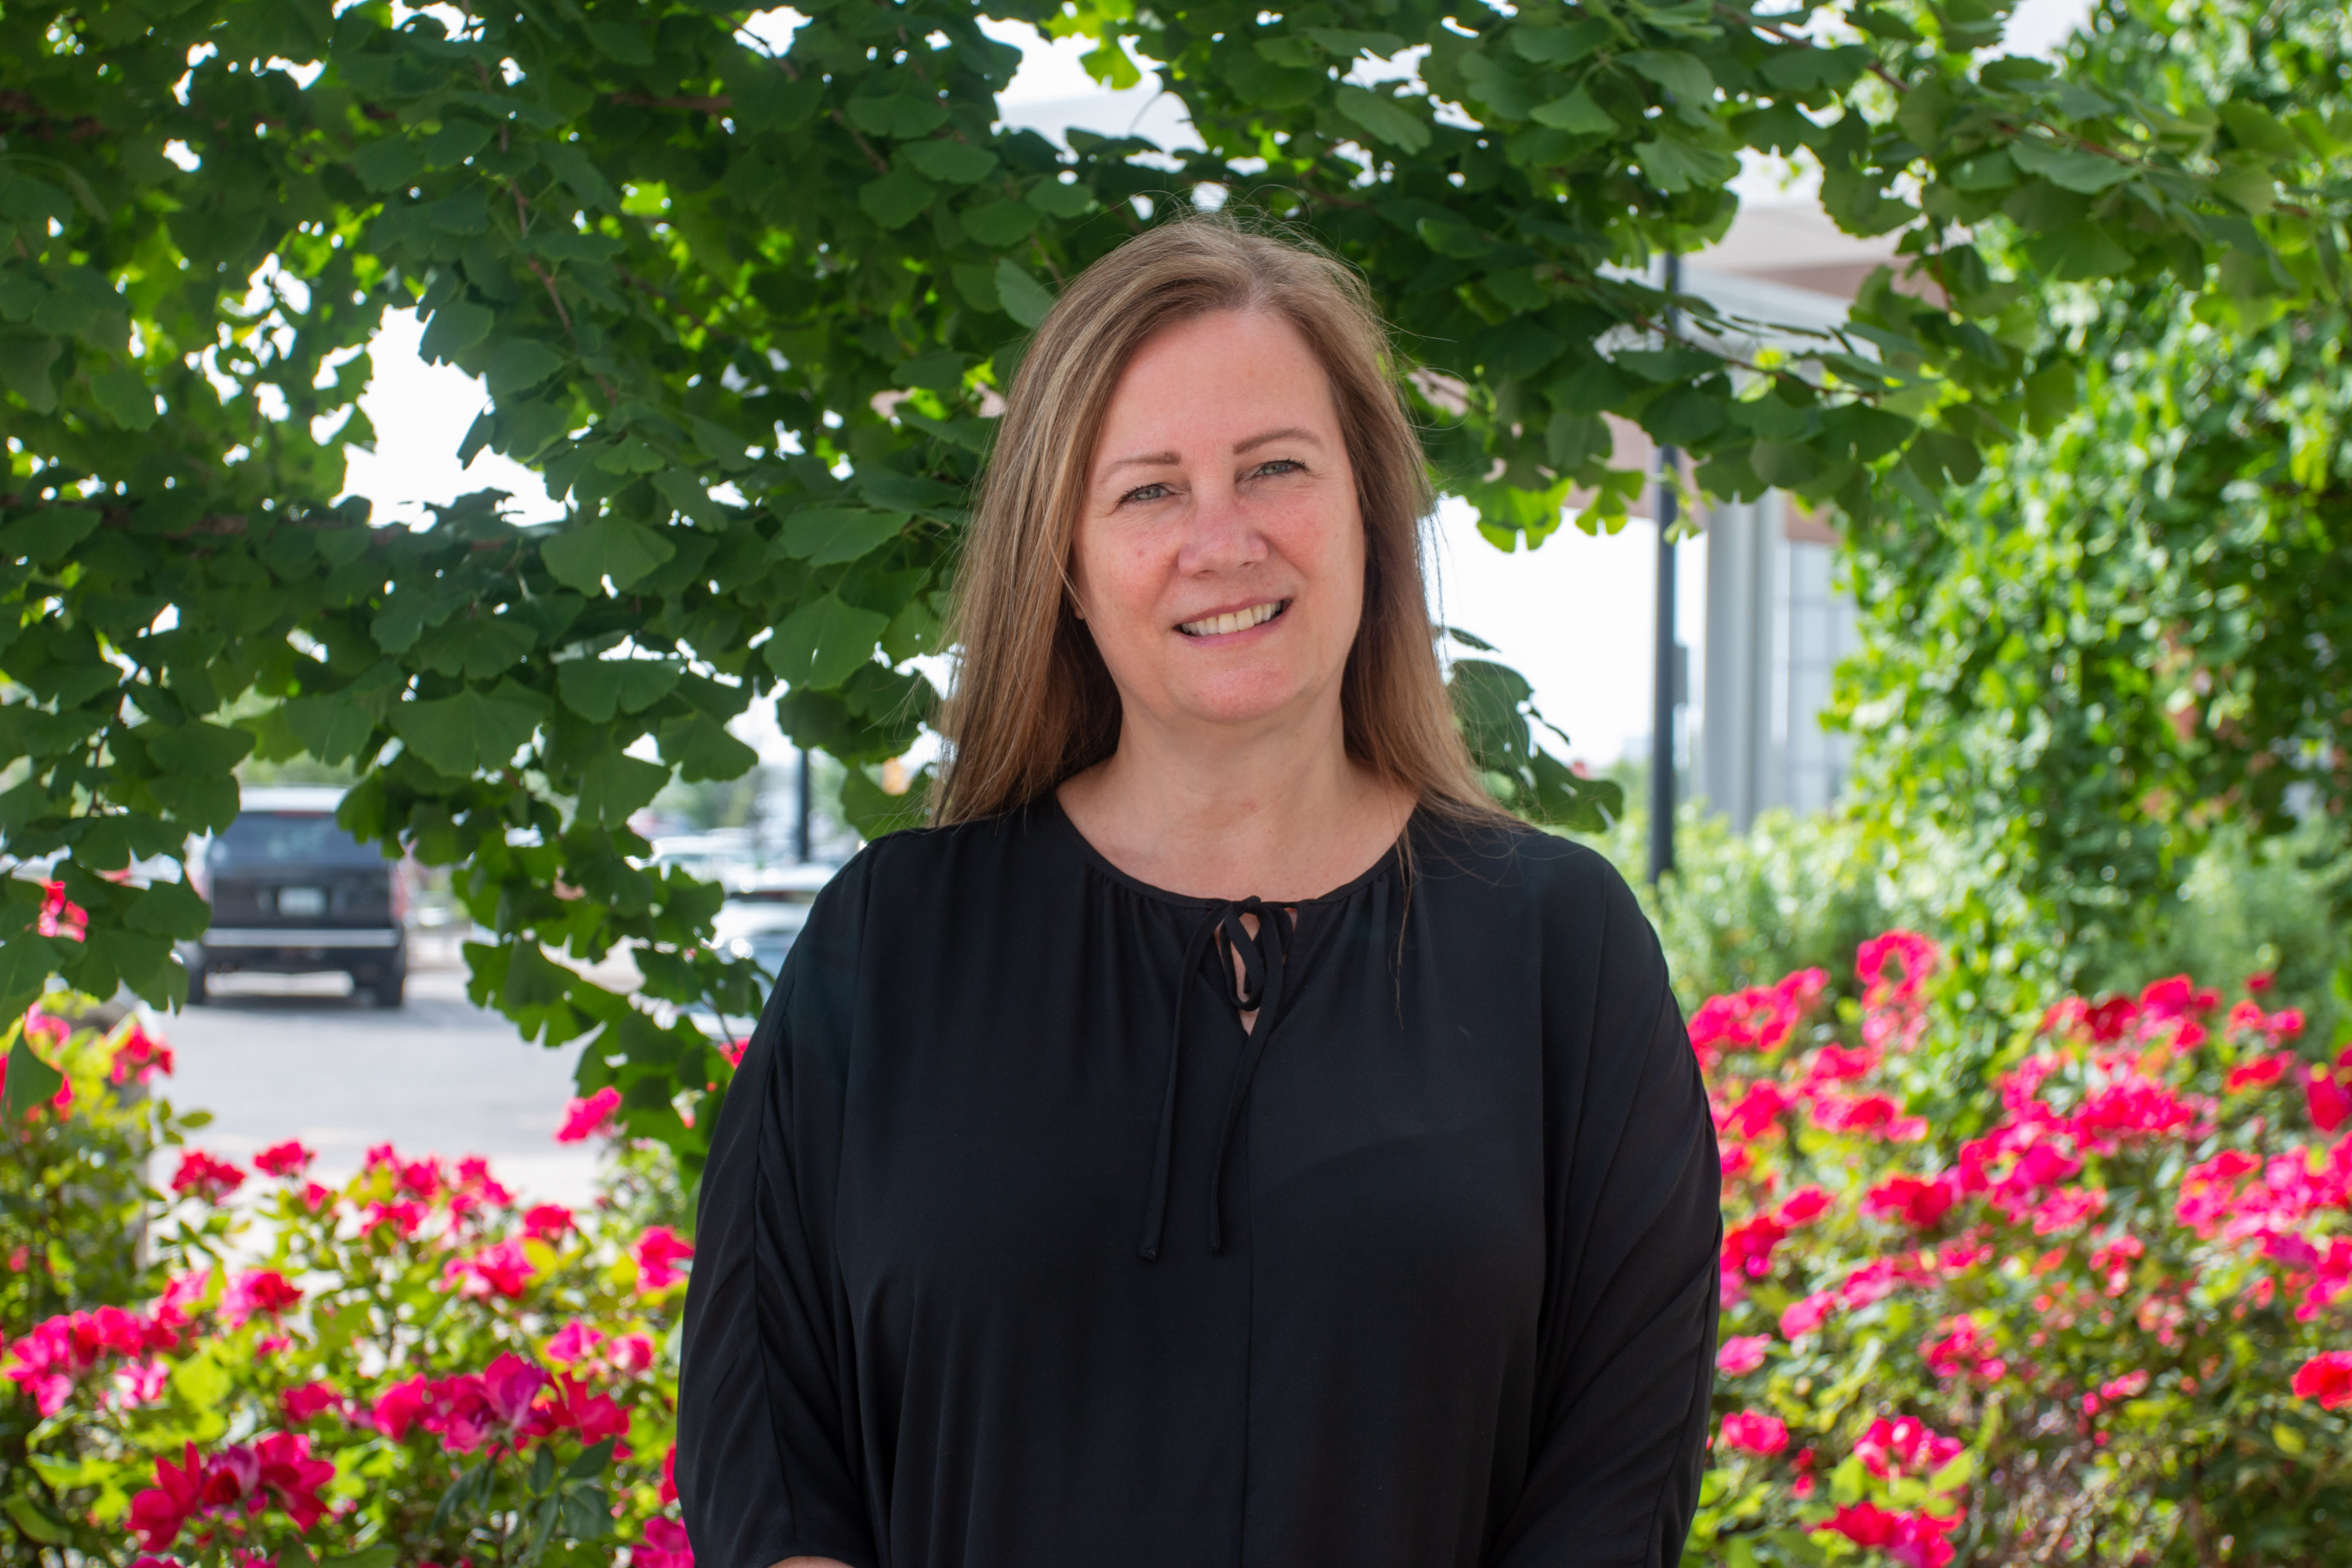
[[[1256,936],[1051,799],[833,879],[703,1173],[701,1568],[1679,1556],[1722,1218],[1658,940],[1578,844],[1406,842]]]

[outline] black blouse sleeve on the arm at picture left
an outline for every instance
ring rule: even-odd
[[[809,910],[703,1166],[677,1387],[677,1497],[701,1568],[877,1568],[835,1269],[863,870]]]

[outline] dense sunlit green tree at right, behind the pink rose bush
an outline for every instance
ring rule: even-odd
[[[2180,12],[2107,0],[2070,78],[2176,110],[2352,113],[2343,7]],[[2352,804],[2352,315],[2171,277],[2053,284],[2034,310],[2086,395],[1950,505],[1856,531],[1844,705],[1863,811],[1938,839],[1978,961],[2074,976],[2157,936],[2216,825]],[[2298,849],[2324,842],[2340,827]]]

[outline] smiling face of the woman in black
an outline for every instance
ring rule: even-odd
[[[1075,578],[1131,719],[1251,726],[1338,703],[1364,520],[1296,327],[1223,310],[1136,350],[1087,473]]]

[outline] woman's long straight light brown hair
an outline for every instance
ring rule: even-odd
[[[1501,816],[1437,670],[1421,585],[1435,496],[1371,292],[1319,247],[1218,214],[1150,228],[1080,273],[1014,374],[948,614],[960,654],[934,820],[1028,804],[1117,748],[1117,686],[1070,609],[1087,470],[1134,353],[1218,310],[1279,315],[1331,378],[1364,517],[1364,616],[1341,677],[1348,755],[1425,806]]]

